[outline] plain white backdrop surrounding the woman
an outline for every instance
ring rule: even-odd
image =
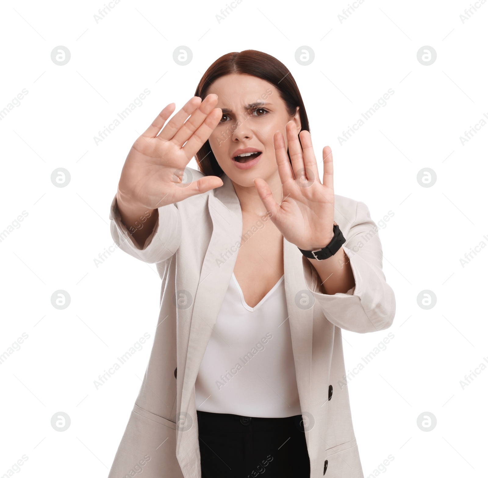
[[[290,69],[319,168],[322,148],[332,148],[335,192],[365,202],[377,223],[394,213],[379,232],[393,325],[343,334],[346,370],[394,334],[348,385],[365,477],[388,455],[382,475],[486,475],[488,370],[464,390],[460,380],[488,357],[488,251],[465,267],[460,259],[488,244],[488,125],[464,145],[460,136],[488,115],[488,3],[464,23],[468,1],[365,0],[341,23],[347,5],[243,0],[219,23],[225,0],[122,0],[97,23],[103,0],[2,3],[0,109],[28,94],[0,121],[0,231],[28,215],[0,242],[0,354],[28,338],[0,366],[0,475],[22,455],[24,477],[108,475],[149,359],[161,288],[154,265],[120,249],[94,263],[113,244],[108,214],[121,168],[166,104],[180,109],[212,62],[245,49]],[[71,52],[63,66],[51,61],[58,45]],[[180,45],[193,52],[186,66],[173,61]],[[295,60],[303,45],[315,53],[308,66]],[[437,52],[429,66],[417,60],[425,45]],[[144,88],[142,106],[96,145]],[[340,145],[389,88],[386,106]],[[60,167],[70,172],[67,187],[51,183]],[[432,187],[417,182],[426,167],[437,175]],[[51,305],[60,289],[71,296],[64,310]],[[430,310],[417,304],[423,290],[437,297]],[[143,333],[151,339],[97,390],[98,375]],[[71,418],[65,432],[51,427],[57,412]],[[417,426],[424,412],[437,418],[430,432]]]

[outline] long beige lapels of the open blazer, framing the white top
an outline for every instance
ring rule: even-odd
[[[243,234],[241,205],[234,185],[226,174],[222,176],[222,180],[223,186],[213,189],[208,195],[208,210],[213,230],[195,295],[183,379],[181,412],[188,412],[190,394],[193,393],[203,354],[224,301],[239,251],[237,246]],[[302,411],[308,412],[313,307],[305,308],[303,299],[305,293],[313,300],[313,294],[308,291],[305,284],[302,253],[285,238],[283,238],[283,249],[286,305],[297,386]],[[196,404],[197,407],[198,405]],[[179,448],[181,437],[185,434],[178,435]]]

